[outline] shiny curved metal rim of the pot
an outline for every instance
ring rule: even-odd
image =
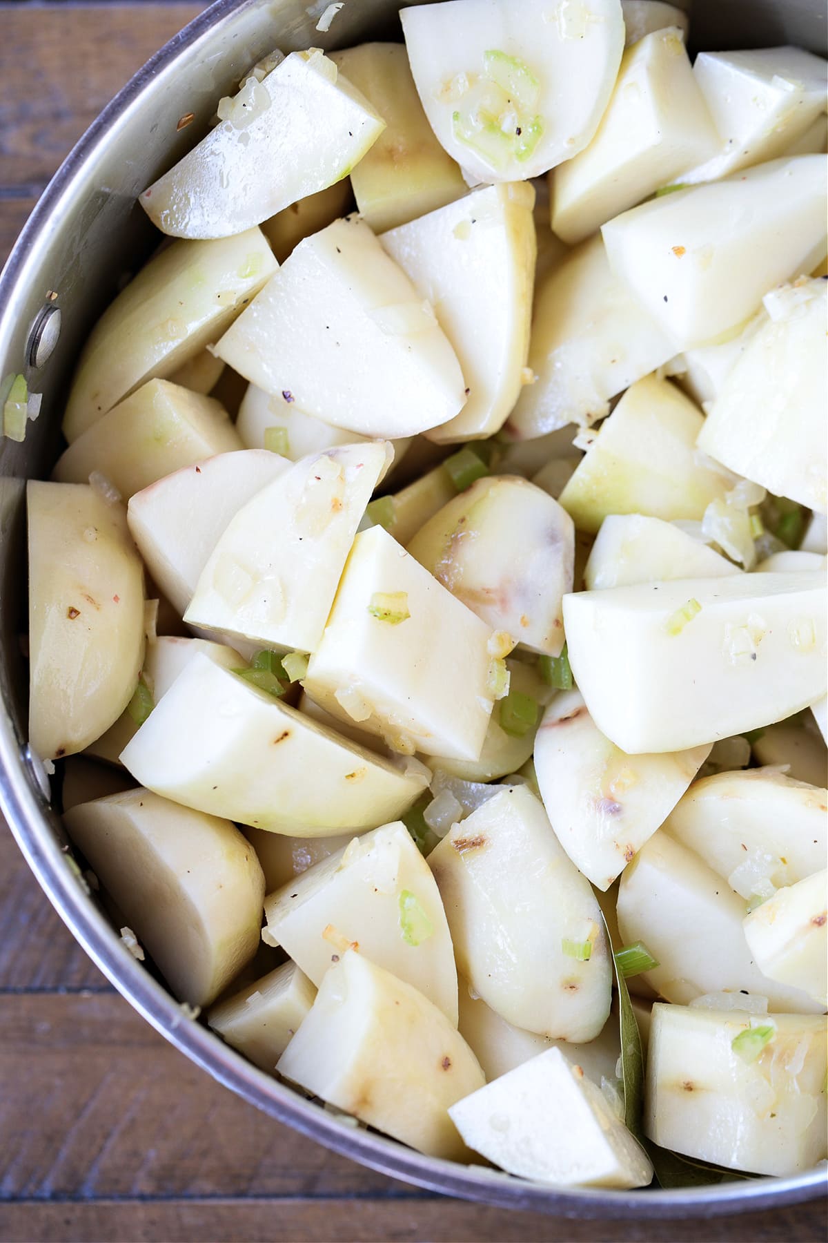
[[[161,71],[169,72],[187,57],[199,40],[221,25],[230,26],[236,14],[262,2],[216,0],[130,78],[76,143],[37,201],[0,273],[0,344],[22,302],[29,273],[37,270],[46,239],[60,227],[63,201],[73,198],[86,167],[94,160],[112,124],[125,116]],[[0,812],[41,889],[74,938],[130,1006],[196,1065],[251,1105],[326,1149],[428,1191],[570,1218],[655,1219],[757,1212],[814,1198],[826,1186],[827,1171],[817,1167],[787,1178],[760,1177],[695,1188],[561,1190],[483,1166],[461,1166],[423,1156],[396,1140],[343,1124],[336,1115],[258,1070],[209,1028],[194,1022],[125,951],[67,866],[58,838],[60,818],[48,807],[45,794],[47,786],[40,761],[17,737],[11,706],[4,699],[0,705]]]

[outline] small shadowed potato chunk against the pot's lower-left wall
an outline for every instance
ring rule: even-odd
[[[276,971],[212,1006],[207,1023],[233,1049],[273,1074],[315,996],[317,989],[295,962],[283,962]]]

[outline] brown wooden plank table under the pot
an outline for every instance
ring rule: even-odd
[[[0,261],[50,175],[199,4],[0,4]],[[0,824],[0,1241],[818,1241],[821,1203],[663,1224],[444,1199],[271,1121],[156,1035]]]

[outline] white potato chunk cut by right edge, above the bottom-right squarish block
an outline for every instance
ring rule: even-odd
[[[828,873],[780,889],[746,916],[745,940],[771,979],[828,1007]]]

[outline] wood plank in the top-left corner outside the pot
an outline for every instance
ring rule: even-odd
[[[132,75],[205,4],[0,9],[0,186],[42,188]]]

